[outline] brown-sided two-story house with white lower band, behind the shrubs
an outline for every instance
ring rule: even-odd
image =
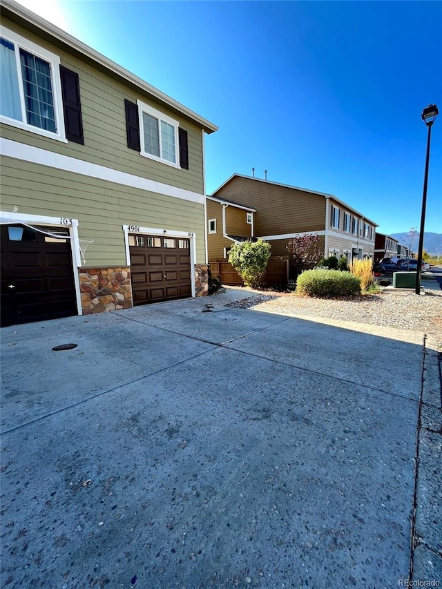
[[[324,256],[374,258],[378,226],[332,194],[233,174],[211,198],[232,200],[256,209],[256,238],[271,244],[272,255],[287,255],[287,245],[297,235],[318,235]]]

